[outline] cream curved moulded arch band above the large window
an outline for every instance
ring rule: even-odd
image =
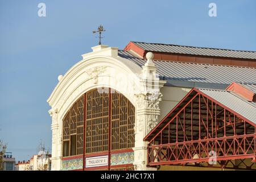
[[[58,110],[61,119],[83,93],[105,86],[118,90],[135,105],[140,72],[138,65],[121,57],[90,56],[65,73],[47,102]]]

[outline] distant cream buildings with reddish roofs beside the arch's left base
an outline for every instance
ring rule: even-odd
[[[33,155],[30,160],[18,162],[16,171],[49,171],[51,170],[51,154]]]

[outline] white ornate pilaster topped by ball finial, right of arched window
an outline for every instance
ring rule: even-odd
[[[162,94],[160,88],[164,81],[160,81],[156,73],[156,66],[152,59],[154,54],[148,52],[147,62],[142,67],[140,78],[140,90],[135,96],[136,102],[136,126],[135,126],[135,147],[134,150],[134,165],[138,171],[146,171],[154,168],[147,168],[147,142],[143,138],[150,132],[158,123],[160,115],[159,102]]]

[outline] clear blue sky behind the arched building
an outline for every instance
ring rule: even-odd
[[[38,4],[46,3],[46,17]],[[209,3],[217,17],[208,15]],[[130,40],[256,51],[256,1],[0,0],[0,139],[16,160],[51,148],[46,100],[65,72],[97,45]]]

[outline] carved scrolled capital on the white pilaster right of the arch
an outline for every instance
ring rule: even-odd
[[[137,97],[137,105],[139,107],[146,106],[150,109],[159,108],[159,102],[162,101],[162,96],[162,93],[154,91],[147,92],[146,94],[135,94],[135,97]]]

